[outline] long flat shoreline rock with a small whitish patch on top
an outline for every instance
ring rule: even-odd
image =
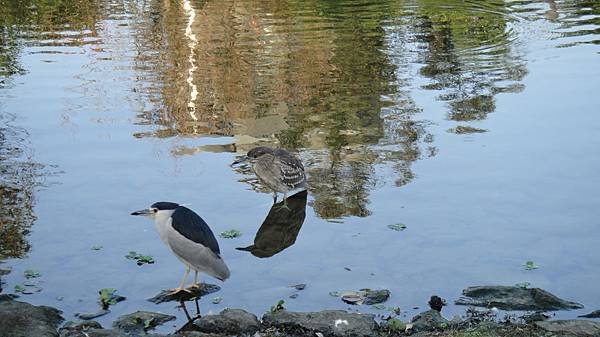
[[[375,336],[377,323],[371,314],[348,313],[343,310],[319,312],[290,312],[286,310],[266,313],[262,320],[267,327],[284,330],[291,336],[313,335],[362,337]]]

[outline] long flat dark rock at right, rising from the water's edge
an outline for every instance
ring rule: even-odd
[[[540,288],[516,286],[477,286],[463,290],[460,305],[496,307],[502,310],[561,310],[581,309],[583,305],[565,301]]]

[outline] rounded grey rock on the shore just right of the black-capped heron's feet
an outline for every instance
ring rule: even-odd
[[[225,309],[218,315],[204,316],[196,325],[202,332],[228,335],[253,335],[260,329],[258,318],[241,309]]]

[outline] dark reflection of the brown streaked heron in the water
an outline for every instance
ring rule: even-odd
[[[306,217],[306,191],[287,198],[284,202],[274,204],[254,237],[254,244],[239,247],[238,250],[250,252],[259,258],[271,257],[296,242]]]

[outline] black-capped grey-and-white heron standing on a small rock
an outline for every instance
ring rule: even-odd
[[[191,209],[174,202],[156,202],[148,209],[133,212],[154,218],[161,240],[185,264],[185,273],[173,293],[184,290],[190,269],[195,272],[192,287],[198,287],[198,272],[221,281],[229,278],[229,268],[221,257],[217,239],[202,218]]]

